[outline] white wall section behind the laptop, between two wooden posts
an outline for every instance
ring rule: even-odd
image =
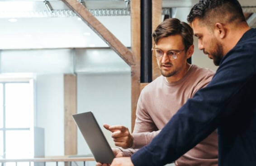
[[[93,111],[111,147],[111,132],[103,124],[121,124],[131,129],[131,77],[124,74],[78,74],[77,112]],[[88,154],[85,140],[78,130],[78,154]]]

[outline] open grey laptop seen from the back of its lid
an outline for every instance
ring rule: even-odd
[[[93,113],[90,111],[72,116],[95,160],[110,164],[115,156]]]

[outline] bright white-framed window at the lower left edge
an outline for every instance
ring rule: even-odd
[[[0,82],[0,158],[33,157],[33,92],[29,82]]]

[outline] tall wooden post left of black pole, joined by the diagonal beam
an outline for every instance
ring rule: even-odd
[[[136,119],[137,101],[140,95],[140,60],[141,60],[141,2],[131,0],[131,47],[134,65],[131,65],[132,81],[132,131]]]

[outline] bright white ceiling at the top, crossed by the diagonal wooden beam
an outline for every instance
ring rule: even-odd
[[[0,49],[108,47],[61,0],[49,2],[52,13],[44,0],[0,0]],[[180,19],[185,19],[189,12],[180,7],[190,9],[196,2],[198,0],[162,0],[163,8],[179,7],[176,17]],[[256,7],[256,0],[240,2],[243,6]],[[125,0],[85,0],[85,6],[90,10],[127,9]],[[17,21],[10,22],[10,18]],[[125,46],[130,46],[129,15],[96,18]]]

